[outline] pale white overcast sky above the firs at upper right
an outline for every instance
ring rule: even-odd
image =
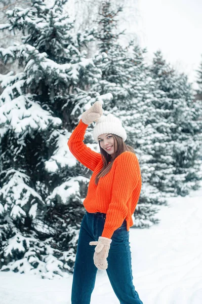
[[[171,64],[196,81],[202,60],[202,0],[134,0],[138,21],[134,25],[148,58],[160,49]],[[134,12],[135,13],[135,12]],[[136,12],[137,13],[137,12]]]

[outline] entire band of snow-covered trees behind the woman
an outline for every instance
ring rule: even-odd
[[[0,4],[0,270],[67,278],[92,174],[67,146],[82,113],[99,100],[123,122],[142,174],[132,229],[158,226],[201,186],[202,61],[197,90],[160,50],[148,63],[126,1]]]

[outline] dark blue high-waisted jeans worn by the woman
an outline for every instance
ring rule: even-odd
[[[90,246],[89,243],[98,241],[104,228],[105,218],[104,213],[86,212],[82,219],[74,264],[71,304],[89,304],[91,301],[97,268],[93,261],[95,246]],[[108,268],[106,269],[111,286],[120,304],[143,304],[133,285],[126,220],[114,231],[111,239],[107,257]]]

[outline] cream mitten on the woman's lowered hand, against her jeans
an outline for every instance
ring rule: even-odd
[[[111,239],[99,237],[98,241],[89,243],[90,245],[97,245],[95,247],[93,260],[96,267],[100,270],[105,270],[108,267],[107,257],[111,241]]]

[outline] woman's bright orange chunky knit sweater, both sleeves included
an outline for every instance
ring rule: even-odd
[[[102,237],[111,238],[124,219],[127,231],[133,225],[132,214],[141,191],[141,173],[136,155],[130,151],[120,154],[113,162],[111,170],[95,184],[95,177],[103,167],[100,153],[93,151],[83,142],[88,125],[79,121],[73,130],[68,147],[73,156],[93,171],[84,207],[90,213],[106,213]]]

